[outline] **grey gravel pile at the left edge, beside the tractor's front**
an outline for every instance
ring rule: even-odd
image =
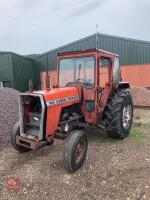
[[[0,149],[10,145],[10,133],[18,120],[18,94],[11,88],[0,88]]]

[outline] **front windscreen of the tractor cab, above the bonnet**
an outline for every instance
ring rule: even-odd
[[[94,86],[94,57],[61,59],[59,65],[59,86],[67,83],[82,83],[86,87]]]

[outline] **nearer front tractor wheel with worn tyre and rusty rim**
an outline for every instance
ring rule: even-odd
[[[82,130],[73,131],[66,140],[63,152],[64,168],[76,172],[84,163],[88,149],[87,135]]]

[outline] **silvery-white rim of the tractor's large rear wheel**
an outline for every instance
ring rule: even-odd
[[[124,106],[122,115],[123,127],[125,129],[128,129],[130,127],[131,118],[132,118],[132,107],[130,104],[128,104]]]

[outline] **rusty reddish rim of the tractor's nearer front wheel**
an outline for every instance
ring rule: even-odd
[[[85,152],[85,142],[84,141],[80,141],[76,148],[75,148],[75,152],[74,152],[74,158],[75,158],[75,163],[79,164],[83,158],[84,158],[84,152]]]

